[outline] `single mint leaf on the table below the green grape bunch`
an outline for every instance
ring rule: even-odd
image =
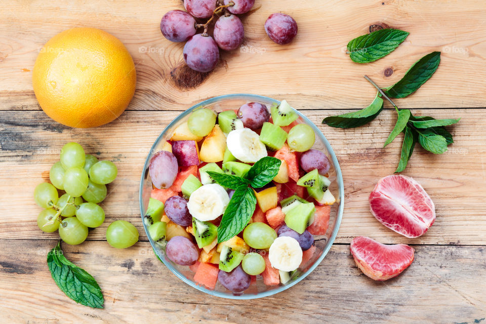
[[[95,278],[67,260],[60,244],[61,241],[47,255],[47,264],[57,287],[76,303],[103,308],[103,294]]]

